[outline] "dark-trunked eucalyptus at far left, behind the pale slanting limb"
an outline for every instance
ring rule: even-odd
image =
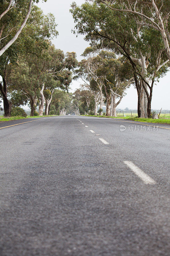
[[[33,6],[20,37],[0,56],[0,75],[3,78],[3,83],[0,83],[0,91],[3,96],[5,116],[10,116],[12,107],[12,102],[8,98],[7,80],[9,79],[7,73],[9,74],[9,72],[7,72],[7,67],[10,65],[8,69],[11,69],[11,65],[18,62],[19,55],[20,60],[23,58],[21,56],[41,56],[43,49],[48,48],[49,39],[57,34],[54,16],[52,14],[44,15],[40,8]],[[16,86],[15,90],[17,90]]]

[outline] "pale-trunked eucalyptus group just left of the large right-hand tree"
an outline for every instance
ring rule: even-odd
[[[98,42],[93,37],[90,43],[92,47],[86,48],[83,56],[86,57],[88,62],[86,70],[92,78],[90,84],[95,85],[100,90],[100,115],[103,107],[101,98],[104,94],[106,98],[106,116],[112,116],[113,114],[115,116],[116,107],[121,102],[125,90],[132,83],[133,77],[127,61],[125,62],[123,58],[119,58],[114,49],[109,44],[105,44],[104,41],[100,40]],[[116,97],[119,98],[117,102],[115,102]]]

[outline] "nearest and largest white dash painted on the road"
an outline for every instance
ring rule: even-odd
[[[139,167],[131,161],[123,161],[145,184],[156,184],[156,181],[143,172]]]

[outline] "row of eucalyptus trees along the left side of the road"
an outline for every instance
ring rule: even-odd
[[[29,104],[31,116],[48,115],[56,88],[68,91],[76,53],[56,49],[51,39],[58,35],[55,17],[33,3],[0,1],[0,96],[4,116],[12,107]]]

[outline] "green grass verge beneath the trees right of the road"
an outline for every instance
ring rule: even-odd
[[[90,115],[82,115],[82,116],[90,116]],[[94,115],[92,115],[94,116]],[[170,119],[159,118],[159,119],[152,119],[152,118],[138,118],[138,117],[129,117],[129,116],[94,116],[94,117],[105,117],[105,118],[117,118],[117,119],[126,119],[132,120],[137,122],[144,122],[144,123],[157,123],[157,124],[170,124]]]

